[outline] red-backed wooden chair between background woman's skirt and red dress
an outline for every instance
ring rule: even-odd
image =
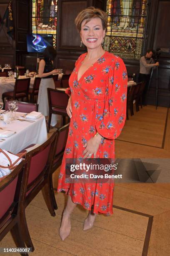
[[[68,116],[66,108],[69,96],[64,91],[51,88],[47,88],[47,92],[49,104],[49,119],[47,131],[49,132],[52,114],[62,115],[62,125],[65,125],[65,117]]]

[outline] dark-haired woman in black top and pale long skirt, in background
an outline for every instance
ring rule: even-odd
[[[41,77],[40,88],[38,92],[38,111],[47,117],[49,115],[47,88],[55,89],[52,78],[57,74],[57,69],[53,69],[53,60],[56,57],[56,51],[52,46],[47,46],[43,52],[44,58],[40,61],[38,75]]]

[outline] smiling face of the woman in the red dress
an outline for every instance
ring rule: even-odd
[[[102,28],[102,20],[100,18],[93,18],[85,23],[86,20],[83,20],[80,31],[82,43],[87,49],[100,48],[105,36],[105,30]]]

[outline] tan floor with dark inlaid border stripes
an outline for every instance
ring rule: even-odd
[[[133,134],[135,138],[132,139]],[[167,108],[155,110],[147,106],[130,117],[116,141],[116,152],[121,158],[170,158],[170,113]],[[57,187],[58,171],[53,177],[54,187]],[[71,218],[71,234],[64,242],[58,229],[66,197],[63,193],[55,196],[58,205],[55,217],[50,216],[41,192],[26,209],[35,246],[30,255],[170,255],[170,182],[115,184],[114,214],[97,216],[94,227],[83,231],[87,211],[78,205]],[[10,233],[0,242],[0,247],[15,247]]]

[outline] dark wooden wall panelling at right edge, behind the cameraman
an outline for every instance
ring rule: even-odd
[[[166,48],[170,49],[170,1],[154,0],[150,3],[150,24],[148,29],[148,48]],[[170,51],[161,52],[158,59],[158,105],[170,106]],[[155,104],[156,92],[156,70],[153,71],[153,78],[148,93],[148,103]]]

